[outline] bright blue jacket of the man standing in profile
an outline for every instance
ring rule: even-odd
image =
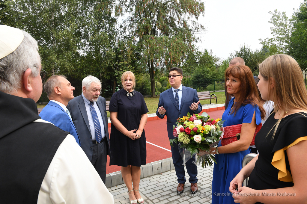
[[[76,142],[80,145],[80,138],[75,125],[72,123],[72,120],[66,111],[64,111],[59,104],[53,101],[49,101],[47,106],[41,110],[39,116],[41,119],[51,122],[56,127],[69,132],[72,136],[75,137]]]

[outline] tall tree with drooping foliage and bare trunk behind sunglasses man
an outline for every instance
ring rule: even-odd
[[[193,20],[203,13],[204,3],[200,0],[118,1],[115,14],[125,17],[120,24],[121,35],[141,54],[139,66],[149,72],[152,97],[154,71],[159,66],[166,69],[180,66],[187,49],[198,40],[195,33],[204,30]]]

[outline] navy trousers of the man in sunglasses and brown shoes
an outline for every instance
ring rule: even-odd
[[[197,176],[197,166],[192,163],[193,160],[195,160],[195,156],[193,156],[191,159],[188,160],[187,163],[185,163],[185,166],[182,165],[183,160],[181,158],[179,149],[178,149],[178,144],[173,142],[173,146],[171,145],[171,150],[172,150],[172,157],[173,157],[173,163],[175,166],[175,171],[176,175],[178,177],[177,181],[178,183],[185,183],[185,166],[188,171],[188,175],[190,176],[189,182],[190,183],[197,183],[198,179],[196,178]]]

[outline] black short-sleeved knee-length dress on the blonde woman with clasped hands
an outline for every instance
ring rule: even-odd
[[[109,111],[117,112],[117,119],[127,130],[138,129],[143,114],[148,112],[143,95],[133,91],[133,96],[126,96],[127,91],[121,89],[115,92],[110,100]],[[136,132],[136,131],[135,131]],[[134,133],[135,133],[134,132]],[[132,140],[122,134],[111,124],[110,135],[110,166],[126,167],[133,165],[140,167],[146,164],[145,129],[139,139]]]

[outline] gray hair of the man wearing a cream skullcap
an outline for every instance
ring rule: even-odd
[[[21,88],[21,77],[28,69],[32,69],[31,76],[40,73],[37,68],[41,65],[36,40],[22,30],[24,38],[16,50],[0,59],[0,91],[11,94]],[[34,67],[37,66],[37,67]]]

